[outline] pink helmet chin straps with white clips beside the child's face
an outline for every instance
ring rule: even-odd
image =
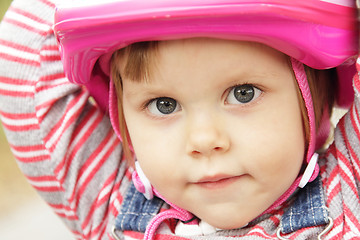
[[[309,88],[309,84],[307,81],[304,65],[294,58],[291,59],[291,65],[295,74],[295,78],[297,80],[299,89],[301,91],[302,97],[304,99],[305,107],[308,113],[309,119],[309,131],[310,131],[310,138],[308,143],[308,149],[306,153],[306,157],[304,161],[307,164],[307,167],[304,170],[302,175],[299,175],[289,189],[283,193],[267,210],[265,210],[261,215],[269,213],[270,211],[274,210],[282,203],[284,203],[293,193],[294,191],[300,187],[303,188],[308,182],[313,181],[319,174],[319,165],[317,163],[318,154],[315,153],[315,149],[319,146],[322,146],[326,141],[326,138],[329,134],[329,116],[327,113],[324,114],[320,131],[316,134],[316,127],[315,127],[315,113],[313,107],[313,101],[311,97],[311,92]],[[110,81],[110,89],[109,89],[109,116],[111,120],[111,124],[113,125],[114,131],[116,135],[121,140],[122,137],[119,131],[119,120],[118,120],[118,105],[117,105],[117,96],[115,91],[115,86],[113,81]],[[131,146],[130,146],[131,147]],[[173,203],[167,201],[156,189],[153,188],[148,178],[145,176],[144,172],[142,171],[140,164],[136,161],[135,163],[135,171],[132,175],[132,180],[136,189],[143,193],[147,199],[152,199],[154,195],[163,199],[166,203],[168,203],[172,208],[166,210],[157,216],[150,222],[147,230],[145,232],[145,240],[153,239],[156,229],[160,226],[161,222],[165,219],[176,218],[181,221],[189,221],[194,216],[190,212],[182,209]]]

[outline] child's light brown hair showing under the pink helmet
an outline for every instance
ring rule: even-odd
[[[133,160],[133,154],[129,149],[130,139],[127,133],[122,109],[122,80],[120,76],[119,60],[123,56],[127,57],[126,63],[123,66],[124,76],[137,82],[146,81],[151,75],[151,67],[154,66],[153,62],[155,59],[154,56],[157,52],[157,46],[158,42],[155,41],[134,43],[124,49],[116,51],[112,58],[111,74],[118,95],[119,129],[120,134],[123,137],[124,154],[129,161]],[[289,64],[291,66],[290,59]],[[311,91],[311,96],[313,98],[317,130],[320,127],[322,116],[326,110],[328,111],[329,116],[331,116],[335,102],[337,74],[335,69],[317,70],[308,66],[304,67]],[[300,108],[305,129],[305,139],[306,143],[308,143],[310,137],[309,119],[304,99],[299,88],[298,96],[301,101]]]

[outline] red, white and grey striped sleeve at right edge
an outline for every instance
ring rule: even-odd
[[[360,236],[360,61],[353,79],[355,100],[339,121],[334,144],[327,152],[323,178],[327,205],[334,219],[328,239],[357,239]]]

